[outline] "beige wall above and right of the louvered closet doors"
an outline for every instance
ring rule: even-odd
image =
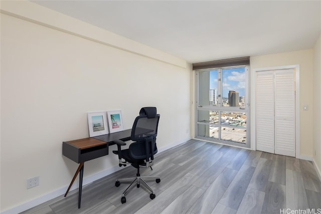
[[[313,50],[251,57],[251,74],[253,69],[299,65],[300,66],[300,156],[312,157],[313,147]],[[253,78],[253,76],[251,77]],[[253,89],[251,89],[253,90]],[[253,98],[252,98],[253,99]],[[308,105],[308,111],[302,106]],[[252,118],[254,112],[251,111]]]

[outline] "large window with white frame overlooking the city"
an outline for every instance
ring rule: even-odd
[[[250,147],[249,67],[201,69],[196,74],[196,137]]]

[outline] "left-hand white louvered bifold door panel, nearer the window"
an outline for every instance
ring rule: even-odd
[[[256,149],[274,153],[274,72],[256,72]]]

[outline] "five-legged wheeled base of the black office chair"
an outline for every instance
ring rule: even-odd
[[[121,182],[131,182],[130,185],[125,189],[125,191],[121,195],[121,203],[126,202],[125,195],[129,191],[129,189],[134,186],[133,184],[136,184],[137,188],[140,187],[140,184],[142,184],[147,190],[149,190],[151,192],[149,195],[150,198],[154,199],[155,198],[154,191],[146,183],[145,180],[146,181],[155,180],[156,183],[161,182],[161,178],[159,176],[140,176],[139,174],[136,174],[136,177],[127,177],[127,178],[116,179],[115,186],[119,186]]]

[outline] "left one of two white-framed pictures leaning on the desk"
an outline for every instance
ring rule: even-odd
[[[106,112],[88,112],[89,137],[108,134]]]

